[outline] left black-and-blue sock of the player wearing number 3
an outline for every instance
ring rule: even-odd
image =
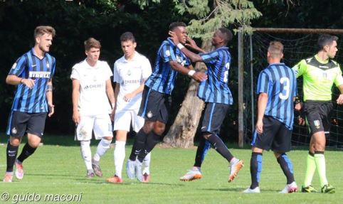
[[[262,171],[262,153],[253,152],[250,159],[250,175],[251,186],[250,189],[258,187],[260,183],[260,173]]]

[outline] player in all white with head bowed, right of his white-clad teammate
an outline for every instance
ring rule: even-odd
[[[144,81],[152,74],[149,60],[137,53],[137,43],[131,32],[120,36],[124,56],[115,61],[113,81],[115,85],[116,106],[113,109],[115,136],[115,176],[107,178],[110,183],[122,183],[122,164],[125,159],[125,143],[130,126],[134,131],[143,127],[144,118],[139,117],[138,110],[142,101]],[[143,161],[143,181],[149,182],[150,154]]]

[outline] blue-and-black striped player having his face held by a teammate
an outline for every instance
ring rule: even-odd
[[[169,26],[181,43],[186,43],[186,24],[174,22]],[[206,80],[206,74],[196,72],[189,58],[181,53],[176,45],[167,38],[157,51],[152,75],[146,80],[142,93],[139,116],[144,117],[144,126],[137,133],[127,161],[127,176],[142,181],[142,161],[158,143],[167,124],[170,95],[174,89],[177,73],[189,75],[196,81]]]

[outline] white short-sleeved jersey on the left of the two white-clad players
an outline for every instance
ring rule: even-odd
[[[106,94],[106,80],[112,76],[110,66],[97,60],[91,67],[86,60],[75,64],[70,79],[80,82],[78,111],[80,115],[110,114],[111,107]]]

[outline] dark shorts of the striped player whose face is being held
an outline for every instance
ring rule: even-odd
[[[144,117],[147,121],[159,121],[167,124],[170,105],[170,95],[154,91],[145,86],[138,115]]]

